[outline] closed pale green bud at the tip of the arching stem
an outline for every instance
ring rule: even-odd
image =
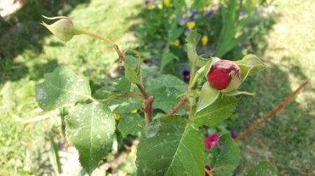
[[[43,16],[45,17],[45,16]],[[75,35],[75,29],[73,27],[73,23],[69,19],[69,17],[45,17],[48,20],[57,20],[53,24],[45,24],[42,22],[44,27],[47,27],[49,31],[52,32],[57,38],[62,41],[70,41],[71,38]]]

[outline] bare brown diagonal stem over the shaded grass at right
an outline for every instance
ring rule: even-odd
[[[279,110],[281,110],[283,107],[285,107],[286,105],[288,105],[288,103],[290,103],[290,101],[293,100],[293,98],[309,83],[309,80],[305,80],[302,85],[300,85],[300,87],[298,87],[297,89],[295,89],[295,91],[293,91],[289,96],[287,96],[287,98],[282,101],[279,105],[277,105],[276,107],[274,107],[271,111],[269,111],[266,115],[262,116],[260,119],[258,119],[257,122],[251,124],[251,126],[248,127],[248,129],[246,129],[245,131],[243,131],[239,136],[237,136],[237,138],[235,140],[241,140],[242,138],[244,138],[248,133],[251,133],[251,131],[253,131],[254,129],[256,129],[258,126],[260,126],[260,124],[263,124],[264,122],[267,121],[267,119],[269,119],[270,117],[272,117],[273,115],[276,114],[276,112],[278,112]]]

